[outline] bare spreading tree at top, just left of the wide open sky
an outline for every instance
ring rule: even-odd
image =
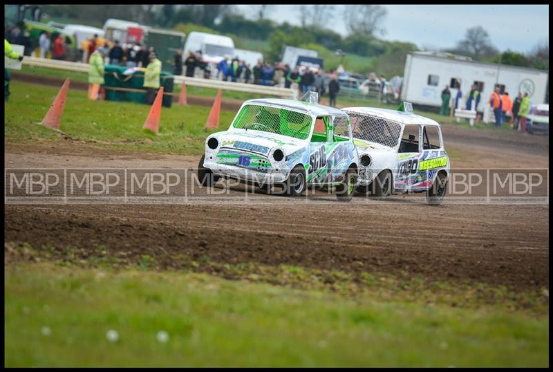
[[[384,34],[380,24],[388,11],[379,5],[346,6],[344,18],[350,34],[373,35],[377,30]]]

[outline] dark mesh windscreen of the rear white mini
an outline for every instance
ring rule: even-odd
[[[402,131],[401,124],[378,116],[348,112],[353,138],[366,140],[388,147],[396,147]]]

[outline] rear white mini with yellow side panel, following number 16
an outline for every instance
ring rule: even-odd
[[[410,107],[410,104],[406,104]],[[444,200],[449,157],[440,124],[410,112],[348,107],[359,153],[361,194],[386,198],[390,194],[426,192],[427,203]]]

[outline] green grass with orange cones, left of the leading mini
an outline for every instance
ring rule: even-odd
[[[8,142],[62,140],[55,131],[32,122],[40,122],[59,89],[20,82],[10,84],[12,95],[6,102],[4,134]],[[223,95],[224,97],[224,95]],[[142,126],[150,106],[131,102],[91,101],[86,92],[70,89],[60,130],[75,140],[123,151],[147,151],[162,154],[202,154],[208,133],[204,126],[211,108],[178,106],[162,108],[158,136]],[[228,128],[233,111],[221,111],[220,129]]]

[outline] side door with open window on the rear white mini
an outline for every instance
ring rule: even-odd
[[[409,191],[415,183],[419,159],[422,156],[421,136],[421,125],[406,124],[404,126],[394,169],[393,181],[396,190]]]

